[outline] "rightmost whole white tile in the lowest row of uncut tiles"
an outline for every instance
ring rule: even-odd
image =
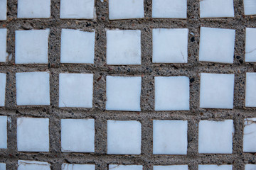
[[[199,122],[199,154],[232,154],[233,120]]]

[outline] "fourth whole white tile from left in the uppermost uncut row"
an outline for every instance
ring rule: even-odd
[[[153,29],[153,62],[187,63],[188,29]]]

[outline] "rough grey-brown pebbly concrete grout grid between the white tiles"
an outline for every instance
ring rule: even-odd
[[[107,169],[108,164],[140,164],[144,170],[153,165],[188,164],[197,169],[198,164],[233,164],[233,170],[243,170],[245,164],[256,164],[256,156],[242,152],[244,118],[256,117],[255,108],[245,108],[245,73],[256,72],[256,66],[245,63],[245,28],[256,27],[256,16],[244,16],[243,1],[235,0],[234,18],[199,18],[199,0],[188,0],[187,19],[151,18],[151,0],[144,1],[145,18],[110,21],[107,0],[95,1],[97,18],[90,20],[60,19],[60,0],[51,1],[51,16],[46,19],[18,19],[17,0],[8,0],[7,21],[0,21],[0,28],[8,29],[7,52],[9,59],[0,64],[6,73],[6,103],[0,115],[8,115],[8,149],[0,150],[0,162],[6,169],[16,169],[18,159],[48,162],[51,169],[61,169],[61,164],[95,164],[96,170]],[[200,27],[235,29],[234,64],[198,62]],[[50,28],[48,64],[14,64],[15,30]],[[95,30],[95,64],[60,64],[60,34],[62,28]],[[111,66],[106,64],[106,29],[119,28],[142,31],[142,65]],[[188,63],[153,64],[152,29],[188,28]],[[193,33],[193,34],[192,34]],[[50,72],[50,106],[16,105],[16,72]],[[59,108],[59,74],[94,74],[92,108]],[[200,73],[235,74],[234,108],[199,108]],[[106,76],[142,77],[141,112],[105,111]],[[154,111],[154,77],[186,76],[190,78],[190,111]],[[16,120],[20,117],[49,118],[50,152],[18,152]],[[60,119],[94,118],[95,153],[63,153],[60,148]],[[188,120],[188,154],[154,155],[152,120]],[[198,154],[199,120],[233,119],[233,154]],[[108,155],[107,120],[138,120],[142,123],[142,154]]]

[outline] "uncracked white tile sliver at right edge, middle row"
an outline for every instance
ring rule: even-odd
[[[246,73],[245,107],[256,107],[256,73]]]

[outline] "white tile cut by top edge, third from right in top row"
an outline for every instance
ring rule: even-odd
[[[186,18],[187,0],[153,0],[153,18]]]

